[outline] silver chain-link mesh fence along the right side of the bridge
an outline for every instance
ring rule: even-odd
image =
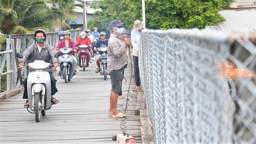
[[[142,32],[155,143],[256,143],[256,33]]]

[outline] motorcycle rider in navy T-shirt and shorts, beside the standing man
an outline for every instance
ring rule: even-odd
[[[106,39],[106,33],[104,31],[102,31],[100,33],[100,38],[101,38],[101,40],[98,40],[95,44],[94,51],[97,51],[97,48],[100,48],[100,47],[107,47],[108,39]],[[95,71],[95,73],[99,73],[99,71],[101,70],[101,68],[100,68],[100,61],[102,60],[101,54],[102,54],[102,52],[99,51],[99,54],[96,58],[96,64],[98,66],[98,69]]]

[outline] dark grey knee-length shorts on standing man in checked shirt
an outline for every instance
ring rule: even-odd
[[[110,72],[110,80],[111,80],[111,91],[119,93],[122,88],[123,76],[124,76],[124,68],[113,70]]]

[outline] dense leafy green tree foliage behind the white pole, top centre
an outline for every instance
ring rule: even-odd
[[[234,0],[145,0],[146,27],[150,29],[205,28],[225,21],[218,11],[230,8]],[[101,8],[89,27],[110,29],[113,19],[119,19],[132,28],[137,19],[142,21],[142,1],[104,0],[93,3],[94,9]]]

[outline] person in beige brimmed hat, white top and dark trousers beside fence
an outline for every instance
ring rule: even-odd
[[[140,83],[140,73],[139,73],[138,45],[139,45],[140,35],[143,30],[144,22],[141,22],[140,20],[136,20],[133,24],[134,24],[133,30],[131,31],[131,45],[133,47],[132,49],[133,68],[134,68],[136,89],[139,90],[139,89],[142,89],[142,87]]]

